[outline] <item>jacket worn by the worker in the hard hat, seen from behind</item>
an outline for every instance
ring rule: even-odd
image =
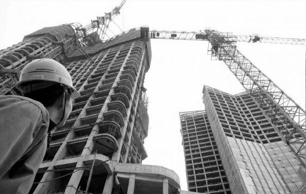
[[[27,194],[47,148],[49,113],[33,99],[0,96],[0,193]]]

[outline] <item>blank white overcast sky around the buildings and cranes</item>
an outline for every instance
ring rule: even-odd
[[[43,27],[88,24],[121,0],[0,0],[0,49]],[[115,22],[122,30],[222,32],[305,38],[305,0],[127,0]],[[119,32],[111,26],[113,32]],[[112,36],[110,33],[109,36]],[[237,49],[305,110],[305,45],[238,43]],[[152,39],[151,67],[144,86],[149,97],[148,158],[180,177],[187,190],[179,113],[204,110],[204,85],[237,94],[244,89],[227,66],[211,61],[206,41]]]

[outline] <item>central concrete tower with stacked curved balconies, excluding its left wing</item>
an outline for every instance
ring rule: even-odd
[[[91,181],[106,181],[112,174],[111,162],[140,164],[147,157],[143,139],[149,119],[143,81],[151,51],[149,39],[141,36],[146,30],[134,29],[86,47],[85,57],[76,50],[64,62],[81,97],[74,100],[65,126],[53,132],[41,168],[54,169],[58,161],[69,168],[82,168],[94,160],[97,165],[104,162],[97,166],[104,177],[92,177]],[[56,178],[55,174],[43,175],[40,181]],[[87,179],[88,172],[79,170],[56,187],[49,182],[38,185],[34,193],[85,191]],[[91,192],[102,192],[102,187]]]

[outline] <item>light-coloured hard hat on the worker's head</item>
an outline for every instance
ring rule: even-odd
[[[31,86],[29,88],[20,87],[20,84],[29,81],[46,81],[46,84],[39,83],[37,85],[35,84],[35,87]],[[48,58],[35,59],[26,65],[21,70],[21,75],[19,81],[17,82],[17,87],[23,91],[29,91],[29,89],[30,91],[33,91],[50,86],[50,83],[48,84],[48,82],[60,83],[68,86],[68,88],[72,90],[72,98],[81,96],[75,87],[73,87],[71,76],[64,65]]]

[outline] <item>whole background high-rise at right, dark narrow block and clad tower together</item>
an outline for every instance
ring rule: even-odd
[[[305,167],[247,92],[204,86],[206,111],[180,113],[188,190],[211,194],[305,192]]]

